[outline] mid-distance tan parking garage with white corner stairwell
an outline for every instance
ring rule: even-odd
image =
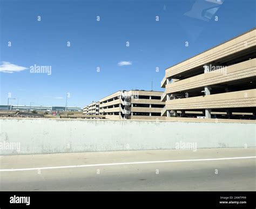
[[[106,119],[161,119],[163,92],[120,90],[99,100],[99,114]]]

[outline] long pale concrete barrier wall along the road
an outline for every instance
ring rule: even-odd
[[[255,147],[255,128],[255,123],[0,119],[0,155],[176,149],[182,143]],[[11,143],[20,149],[11,149]]]

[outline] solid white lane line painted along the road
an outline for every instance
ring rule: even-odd
[[[223,161],[226,159],[250,159],[251,157],[226,157],[226,158],[208,158],[208,159],[177,159],[171,161],[144,161],[144,162],[130,162],[130,163],[103,163],[103,164],[88,164],[88,165],[66,165],[66,166],[53,166],[41,168],[26,168],[26,169],[0,169],[0,172],[5,171],[32,171],[32,170],[46,170],[46,169],[67,169],[67,168],[84,168],[94,166],[107,166],[107,165],[132,165],[132,164],[149,164],[149,163],[176,163],[176,162],[196,162],[196,161]]]

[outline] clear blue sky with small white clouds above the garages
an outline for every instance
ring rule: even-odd
[[[255,27],[255,1],[0,0],[0,21],[0,104],[11,93],[19,105],[65,106],[70,93],[68,106],[83,107],[151,81],[164,90],[167,67]]]

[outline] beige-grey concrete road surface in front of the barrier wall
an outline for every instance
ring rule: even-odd
[[[0,156],[1,191],[256,191],[255,148]]]

